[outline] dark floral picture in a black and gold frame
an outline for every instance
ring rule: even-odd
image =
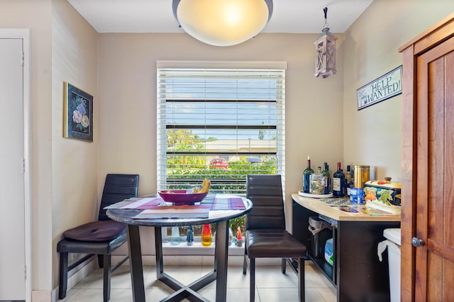
[[[93,96],[65,82],[63,136],[93,141]]]

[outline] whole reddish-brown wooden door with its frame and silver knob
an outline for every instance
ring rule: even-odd
[[[402,301],[453,301],[454,14],[401,49]]]

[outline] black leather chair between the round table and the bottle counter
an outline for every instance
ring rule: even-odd
[[[281,175],[248,175],[246,197],[253,209],[246,215],[243,274],[250,268],[250,302],[255,300],[255,258],[282,258],[282,274],[286,261],[297,267],[299,301],[304,301],[304,260],[306,245],[285,230],[284,199]]]

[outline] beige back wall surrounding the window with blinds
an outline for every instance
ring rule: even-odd
[[[343,76],[314,77],[318,37],[260,34],[241,45],[214,47],[186,34],[101,34],[99,175],[139,173],[139,194],[156,192],[157,60],[284,61],[289,201],[291,192],[301,190],[308,155],[313,165],[328,161],[331,169],[343,158]],[[338,69],[343,69],[342,60]]]

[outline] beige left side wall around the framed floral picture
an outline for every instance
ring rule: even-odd
[[[52,288],[57,242],[68,228],[97,219],[98,34],[65,0],[52,0]],[[93,95],[93,142],[63,137],[63,82]]]

